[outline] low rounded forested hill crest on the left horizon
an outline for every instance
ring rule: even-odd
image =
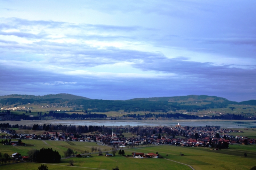
[[[33,100],[45,100],[45,99],[63,99],[63,100],[76,100],[76,99],[84,99],[90,100],[87,97],[71,95],[67,93],[60,93],[56,95],[44,95],[44,96],[34,96],[34,95],[7,95],[0,96],[0,99],[4,98],[20,98],[20,99],[33,99]]]

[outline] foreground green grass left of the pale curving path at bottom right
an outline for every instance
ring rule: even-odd
[[[68,166],[68,159],[62,160],[60,164],[48,165],[49,170],[58,170],[58,169],[81,169],[81,167],[90,167],[90,168],[100,168],[106,170],[112,170],[112,168],[118,166],[120,170],[130,170],[130,169],[140,169],[140,170],[149,170],[149,169],[161,169],[161,170],[189,170],[188,166],[171,162],[165,159],[133,159],[125,158],[122,156],[116,157],[105,157],[105,156],[95,156],[93,158],[72,158],[75,163],[74,166]],[[37,169],[38,163],[19,163],[14,165],[2,166],[4,169],[8,170],[27,170],[27,169]],[[2,168],[0,166],[0,168]],[[83,168],[89,169],[89,168]]]

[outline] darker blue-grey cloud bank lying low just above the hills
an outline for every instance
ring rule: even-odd
[[[195,64],[194,64],[195,65]],[[250,79],[249,79],[250,78]],[[135,97],[180,96],[206,94],[242,101],[256,94],[252,75],[223,75],[204,77],[200,74],[179,74],[175,77],[159,78],[111,78],[100,79],[78,75],[63,75],[51,71],[0,67],[0,89],[2,94],[56,94],[72,93],[95,99],[129,99]],[[62,83],[60,83],[62,82]],[[66,82],[66,83],[65,83]],[[75,83],[74,83],[75,82]],[[228,88],[227,88],[228,87]]]

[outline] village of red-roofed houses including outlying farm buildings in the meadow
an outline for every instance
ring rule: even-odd
[[[116,127],[116,129],[120,130],[124,127]],[[140,127],[143,131],[149,131],[150,127]],[[220,150],[220,149],[228,149],[229,145],[251,145],[255,144],[255,139],[250,139],[245,136],[232,136],[230,133],[241,133],[243,131],[236,129],[221,129],[218,126],[206,126],[206,127],[189,127],[189,126],[181,126],[180,124],[173,127],[154,127],[156,132],[155,134],[150,135],[134,135],[131,131],[131,137],[124,137],[122,133],[112,132],[108,133],[100,133],[100,132],[91,132],[91,134],[81,134],[77,135],[76,133],[66,133],[66,132],[50,132],[46,131],[44,134],[36,135],[36,134],[21,134],[15,133],[11,129],[5,130],[1,129],[0,133],[0,143],[2,145],[12,145],[13,147],[25,147],[27,140],[51,140],[54,142],[59,141],[72,141],[72,142],[94,142],[100,146],[109,146],[109,149],[112,151],[105,150],[104,155],[106,157],[116,156],[116,152],[119,155],[123,155],[130,158],[135,159],[143,159],[143,158],[163,158],[162,155],[158,154],[158,152],[136,152],[136,149],[139,147],[145,146],[157,146],[157,145],[174,145],[180,147],[208,147],[211,150]],[[162,130],[163,129],[163,130]],[[176,135],[168,135],[167,131],[175,132]],[[248,129],[244,129],[248,130]],[[183,135],[183,136],[181,136]],[[185,137],[184,137],[185,136]],[[1,140],[2,139],[2,140]],[[14,140],[13,140],[14,139]],[[112,148],[112,149],[111,149]],[[113,153],[113,148],[116,150]],[[125,149],[134,149],[131,155],[124,155]],[[15,151],[14,151],[15,152]],[[93,152],[93,150],[92,150]],[[96,152],[96,151],[95,151]],[[101,151],[99,151],[98,156],[104,156]],[[109,153],[110,152],[110,153]],[[87,155],[85,155],[87,154]],[[78,158],[88,158],[92,157],[92,153],[90,152],[81,152],[75,153],[73,157]],[[182,153],[180,153],[183,156]],[[18,150],[15,153],[10,155],[13,161],[29,161],[28,155],[21,155],[18,153]],[[64,159],[64,157],[63,157]]]

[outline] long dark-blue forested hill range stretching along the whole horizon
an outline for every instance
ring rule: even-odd
[[[60,106],[69,105],[75,110],[87,110],[92,112],[107,111],[152,111],[168,112],[175,110],[196,111],[210,108],[225,108],[228,104],[256,105],[256,100],[244,102],[233,102],[228,99],[207,96],[207,95],[188,95],[173,97],[150,97],[134,98],[130,100],[98,100],[71,94],[56,94],[45,96],[33,95],[7,95],[0,96],[0,106],[8,107],[11,105],[24,105],[27,103],[58,103]]]

